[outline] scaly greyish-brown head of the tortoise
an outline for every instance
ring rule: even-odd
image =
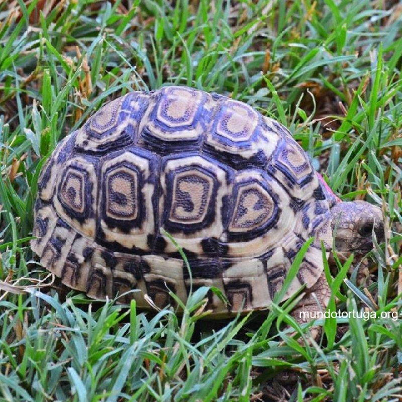
[[[373,248],[373,234],[384,240],[381,209],[365,201],[338,202],[331,208],[332,229],[337,251],[368,252]]]

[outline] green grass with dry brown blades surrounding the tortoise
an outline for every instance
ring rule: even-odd
[[[0,400],[401,400],[402,321],[381,318],[402,292],[401,32],[400,4],[379,0],[0,2]],[[28,245],[41,166],[107,100],[164,83],[247,102],[342,199],[383,206],[374,282],[342,264],[331,280],[331,309],[376,318],[300,345],[280,325],[292,300],[212,325],[208,288],[178,316],[49,286]]]

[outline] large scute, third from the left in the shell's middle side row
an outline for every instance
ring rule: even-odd
[[[233,172],[197,153],[166,157],[160,176],[159,226],[187,251],[203,254],[200,239],[219,238]],[[165,253],[177,252],[166,240]]]

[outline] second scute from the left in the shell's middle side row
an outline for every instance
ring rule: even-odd
[[[157,164],[157,157],[138,147],[102,159],[96,234],[100,244],[151,251],[147,236],[155,234]]]

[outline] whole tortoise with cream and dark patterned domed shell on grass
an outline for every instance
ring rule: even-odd
[[[210,291],[215,317],[269,307],[314,237],[283,296],[306,285],[299,321],[328,304],[321,243],[328,255],[335,225],[342,252],[382,236],[381,210],[339,202],[284,126],[185,86],[127,93],[65,137],[41,172],[34,221],[32,250],[67,286],[144,309],[145,294],[162,308],[175,305],[169,290],[185,302],[191,286],[216,286],[229,303]]]

